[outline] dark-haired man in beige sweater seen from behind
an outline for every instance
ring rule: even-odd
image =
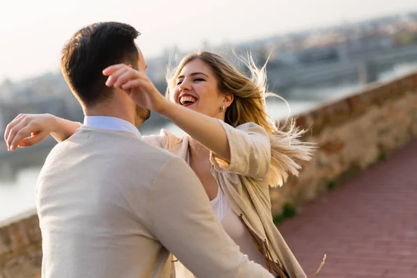
[[[197,277],[272,277],[224,232],[190,167],[140,140],[149,111],[106,86],[109,65],[145,71],[137,36],[127,24],[92,24],[63,48],[85,120],[38,179],[42,277],[169,277],[170,252]]]

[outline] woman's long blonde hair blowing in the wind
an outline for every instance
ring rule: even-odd
[[[284,129],[279,129],[266,113],[265,98],[279,97],[267,90],[266,63],[259,68],[256,67],[252,55],[248,54],[245,59],[239,58],[250,70],[248,77],[225,58],[213,52],[199,51],[188,54],[177,67],[168,70],[165,97],[170,98],[170,90],[175,88],[181,70],[195,59],[202,60],[211,67],[218,80],[220,92],[234,95],[234,101],[225,112],[224,122],[234,127],[254,122],[262,126],[269,134],[272,156],[269,173],[270,186],[282,186],[288,178],[288,172],[297,176],[300,170],[298,161],[308,161],[311,158],[313,145],[300,140],[304,131],[298,129],[294,121],[289,121],[284,131]]]

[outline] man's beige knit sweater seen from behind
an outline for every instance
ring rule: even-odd
[[[49,154],[37,186],[42,278],[272,277],[247,260],[181,158],[127,131],[83,126]]]

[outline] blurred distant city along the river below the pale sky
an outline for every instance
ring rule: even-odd
[[[417,12],[277,35],[237,45],[212,47],[204,43],[202,49],[220,51],[236,65],[239,62],[234,59],[232,50],[236,54],[251,51],[259,65],[263,65],[269,56],[270,90],[291,99],[295,97],[292,89],[300,86],[346,80],[350,83],[375,81],[375,69],[362,63],[364,58],[369,59],[372,55],[374,60],[394,57],[388,64],[379,65],[379,70],[400,63],[401,57],[407,61],[411,57],[417,60]],[[160,92],[165,92],[165,72],[170,58],[181,58],[185,54],[174,47],[147,60],[147,74]],[[366,69],[364,77],[361,77],[358,65]],[[52,113],[70,120],[83,119],[79,104],[58,70],[18,83],[6,79],[0,84],[0,131],[18,113]],[[152,115],[147,125],[154,126],[155,122],[161,122],[161,117]]]

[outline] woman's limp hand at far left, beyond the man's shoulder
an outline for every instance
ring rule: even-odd
[[[6,140],[7,149],[14,151],[17,147],[29,147],[42,142],[56,129],[54,115],[19,114],[6,126],[4,140]]]

